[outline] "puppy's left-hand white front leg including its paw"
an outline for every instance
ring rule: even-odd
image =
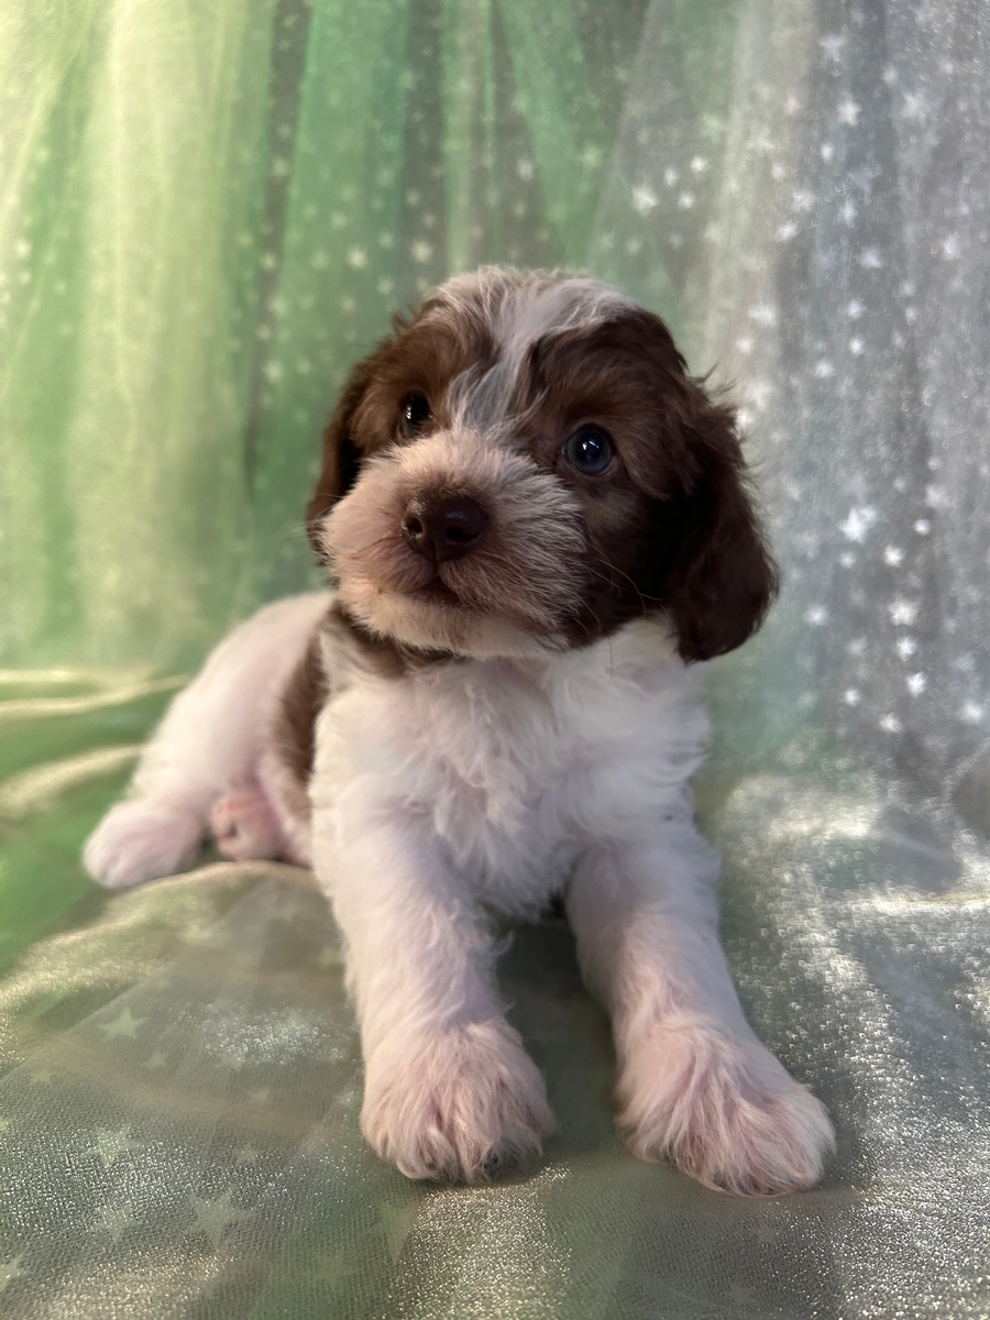
[[[317,809],[313,838],[358,1005],[362,1130],[408,1177],[480,1181],[539,1155],[553,1126],[543,1077],[506,1022],[482,915],[429,830],[356,797]]]

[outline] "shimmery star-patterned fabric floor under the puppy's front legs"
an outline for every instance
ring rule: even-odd
[[[751,1020],[837,1122],[820,1191],[729,1197],[624,1151],[556,920],[500,964],[557,1114],[544,1162],[408,1181],[358,1130],[309,873],[211,863],[98,896],[3,982],[4,1315],[985,1315],[986,894],[876,783],[700,796]]]

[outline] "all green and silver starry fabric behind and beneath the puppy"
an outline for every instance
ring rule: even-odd
[[[0,1315],[990,1313],[990,16],[978,0],[0,0]],[[346,131],[345,131],[346,129]],[[730,381],[784,590],[708,667],[702,826],[822,1187],[632,1159],[566,927],[500,961],[557,1131],[358,1130],[308,873],[78,865],[205,649],[313,581],[347,366],[484,260],[587,265]]]

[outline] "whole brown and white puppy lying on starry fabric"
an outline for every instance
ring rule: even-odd
[[[362,1126],[409,1177],[533,1158],[543,1078],[487,909],[564,900],[609,1008],[618,1122],[709,1187],[812,1187],[825,1110],[748,1027],[688,780],[689,665],[776,578],[733,412],[667,327],[560,273],[457,276],[396,321],[323,438],[309,535],[333,593],[238,628],[86,846],[104,884],[194,858],[312,865],[346,939]]]

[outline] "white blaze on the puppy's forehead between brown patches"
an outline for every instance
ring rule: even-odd
[[[590,330],[636,304],[619,289],[590,276],[516,272],[483,267],[458,275],[437,290],[446,304],[477,317],[480,310],[496,360],[487,371],[469,367],[450,385],[453,422],[491,430],[504,421],[519,371],[540,339],[569,330]]]

